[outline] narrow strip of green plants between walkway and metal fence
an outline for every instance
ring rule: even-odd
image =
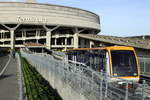
[[[25,58],[21,57],[27,100],[62,100],[48,81],[46,81]]]

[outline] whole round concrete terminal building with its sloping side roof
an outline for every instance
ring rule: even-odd
[[[150,55],[148,36],[97,35],[101,31],[100,17],[87,10],[27,0],[0,2],[0,14],[0,47],[39,44],[36,46],[65,50],[125,45],[135,47],[139,55]]]

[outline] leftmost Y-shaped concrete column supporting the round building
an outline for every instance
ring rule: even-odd
[[[15,47],[15,30],[20,26],[20,24],[17,24],[15,27],[8,27],[5,24],[1,24],[2,26],[4,26],[6,29],[8,29],[10,31],[10,38],[11,38],[11,42],[10,42],[10,48],[14,49]]]

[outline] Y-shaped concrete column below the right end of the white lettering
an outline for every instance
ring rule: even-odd
[[[57,25],[54,28],[48,28],[46,25],[43,25],[46,30],[46,46],[48,49],[51,49],[51,38],[52,38],[52,31],[58,29],[60,26]]]

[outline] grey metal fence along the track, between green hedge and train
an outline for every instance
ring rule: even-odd
[[[59,80],[71,87],[69,92],[64,89],[67,92],[67,99],[64,100],[150,100],[150,87],[145,82],[130,87],[129,81],[119,79],[124,84],[120,87],[117,83],[109,83],[111,77],[105,73],[95,72],[84,64],[55,59],[46,54],[29,54],[24,51],[21,54],[57,90],[63,90],[57,86]],[[74,98],[74,93],[84,98]]]

